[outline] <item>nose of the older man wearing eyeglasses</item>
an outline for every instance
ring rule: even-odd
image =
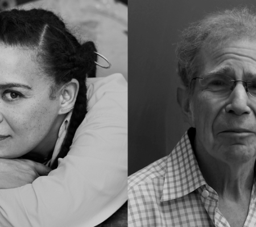
[[[233,112],[236,115],[249,114],[251,108],[248,106],[249,98],[243,82],[237,81],[226,105],[226,112]]]

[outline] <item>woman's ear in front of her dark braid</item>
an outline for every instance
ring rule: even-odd
[[[75,106],[78,91],[79,82],[77,79],[72,79],[61,88],[59,114],[65,114],[71,111],[71,108]]]

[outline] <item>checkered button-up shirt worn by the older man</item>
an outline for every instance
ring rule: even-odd
[[[255,183],[244,227],[256,226]],[[129,177],[128,224],[143,227],[229,226],[205,182],[186,132],[171,154]]]

